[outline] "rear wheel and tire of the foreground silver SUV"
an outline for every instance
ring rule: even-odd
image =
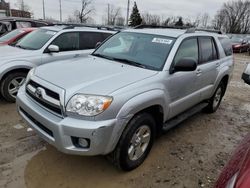
[[[221,82],[214,92],[214,95],[209,99],[208,106],[204,109],[207,113],[214,113],[218,110],[221,104],[221,100],[226,91],[226,84]]]

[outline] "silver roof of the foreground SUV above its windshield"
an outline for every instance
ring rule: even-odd
[[[144,34],[154,34],[154,35],[162,35],[173,38],[178,38],[180,35],[186,33],[186,29],[128,29],[125,30],[127,32],[134,33],[144,33]]]

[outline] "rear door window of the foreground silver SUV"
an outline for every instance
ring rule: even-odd
[[[200,63],[208,63],[218,59],[216,46],[212,37],[200,37]]]

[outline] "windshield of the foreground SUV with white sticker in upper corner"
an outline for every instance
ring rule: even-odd
[[[121,32],[111,37],[93,55],[151,70],[162,70],[174,38]]]

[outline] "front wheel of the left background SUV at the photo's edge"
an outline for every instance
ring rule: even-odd
[[[1,83],[1,94],[3,98],[14,103],[16,101],[16,95],[18,89],[25,82],[26,73],[24,72],[14,72],[8,74]]]

